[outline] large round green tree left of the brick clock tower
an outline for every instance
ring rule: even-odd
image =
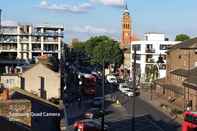
[[[120,66],[123,63],[124,54],[119,48],[119,42],[107,36],[91,37],[81,42],[80,46],[75,44],[73,48],[87,53],[91,58],[91,64],[102,64],[103,59],[105,59],[105,64]]]

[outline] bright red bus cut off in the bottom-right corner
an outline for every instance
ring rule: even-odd
[[[197,131],[197,112],[184,112],[182,131]]]

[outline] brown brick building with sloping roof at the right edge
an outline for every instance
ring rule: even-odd
[[[182,109],[197,110],[197,38],[176,44],[167,52],[166,77],[156,92]]]

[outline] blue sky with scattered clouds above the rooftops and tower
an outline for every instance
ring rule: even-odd
[[[197,36],[197,0],[0,0],[2,23],[64,25],[64,40],[86,40],[121,34],[121,15],[127,2],[134,34],[143,39],[146,32]]]

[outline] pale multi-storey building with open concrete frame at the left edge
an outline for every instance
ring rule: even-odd
[[[61,57],[64,27],[17,24],[1,26],[0,58],[32,59],[42,55]]]

